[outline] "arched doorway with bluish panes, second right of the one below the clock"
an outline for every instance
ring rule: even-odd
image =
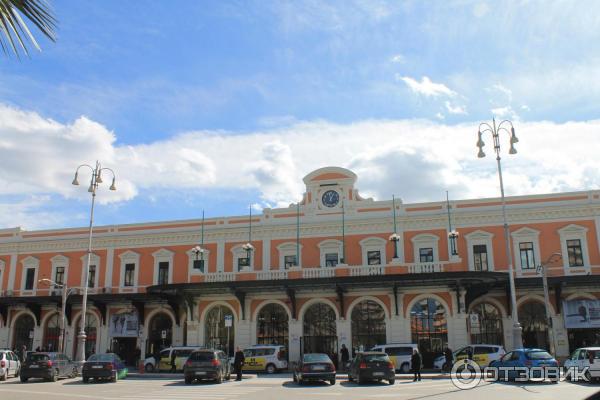
[[[446,310],[434,298],[416,302],[410,310],[410,330],[413,343],[419,346],[423,366],[431,368],[448,343]]]

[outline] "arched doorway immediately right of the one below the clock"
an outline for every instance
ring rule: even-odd
[[[385,311],[373,300],[363,300],[352,309],[352,349],[369,350],[386,343]]]

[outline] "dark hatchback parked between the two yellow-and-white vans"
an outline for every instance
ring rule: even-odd
[[[231,378],[229,357],[221,350],[196,350],[190,354],[183,366],[186,385],[194,380],[214,380],[222,383]]]

